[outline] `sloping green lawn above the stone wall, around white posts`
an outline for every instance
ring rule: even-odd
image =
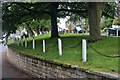
[[[75,48],[69,48],[77,45],[82,41],[82,39],[88,39],[87,35],[80,34],[65,34],[61,35],[63,42],[63,55],[60,57],[58,55],[58,45],[56,44],[57,38],[49,39],[50,34],[41,35],[35,37],[36,48],[32,49],[32,38],[29,38],[29,44],[27,48],[22,46],[17,46],[17,44],[10,44],[9,47],[21,51],[23,54],[27,54],[37,58],[44,58],[48,60],[53,60],[55,62],[60,62],[63,64],[77,65],[80,68],[87,69],[90,71],[102,71],[110,73],[118,73],[118,58],[108,58],[97,54],[94,50],[89,47],[92,45],[97,51],[108,56],[117,56],[120,52],[120,47],[118,46],[117,37],[102,37],[102,40],[95,43],[88,43],[87,46],[87,62],[83,63],[81,58],[81,45]],[[120,37],[119,37],[120,38]],[[46,49],[47,52],[42,52],[42,40],[46,39]],[[56,44],[54,47],[50,48]],[[67,46],[66,46],[67,45]],[[69,47],[68,47],[69,46]]]

